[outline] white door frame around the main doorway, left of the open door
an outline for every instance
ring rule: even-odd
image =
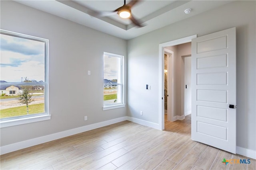
[[[159,129],[161,130],[164,130],[164,100],[163,100],[164,99],[164,48],[168,46],[174,46],[174,45],[191,42],[191,40],[196,37],[197,37],[197,34],[159,44],[158,122],[159,122]]]

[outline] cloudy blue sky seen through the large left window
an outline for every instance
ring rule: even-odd
[[[0,80],[44,81],[44,43],[0,34]]]

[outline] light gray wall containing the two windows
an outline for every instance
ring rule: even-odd
[[[1,128],[1,146],[126,116],[126,107],[102,111],[103,52],[124,55],[126,63],[125,40],[12,1],[1,1],[0,14],[1,29],[49,39],[52,115]]]

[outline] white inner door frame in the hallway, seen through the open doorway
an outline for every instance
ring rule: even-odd
[[[164,49],[164,54],[168,56],[167,58],[167,119],[168,121],[173,121],[174,113],[174,52],[169,49]],[[169,73],[172,74],[169,74]]]

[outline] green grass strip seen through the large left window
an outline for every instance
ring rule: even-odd
[[[28,114],[44,113],[44,103],[28,105]],[[0,118],[14,117],[27,114],[26,106],[12,107],[0,110]]]

